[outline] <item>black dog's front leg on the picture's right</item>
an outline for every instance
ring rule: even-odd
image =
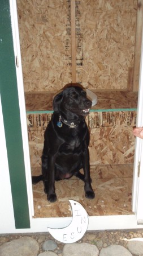
[[[90,179],[90,165],[89,165],[89,150],[86,149],[82,155],[83,169],[84,169],[84,190],[85,196],[88,199],[93,199],[95,197],[94,191],[91,185]]]

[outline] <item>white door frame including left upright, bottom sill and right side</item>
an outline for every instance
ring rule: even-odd
[[[27,125],[26,125],[26,119],[25,119],[26,112],[25,112],[25,102],[24,102],[23,75],[21,71],[21,56],[20,56],[16,0],[10,0],[10,7],[11,7],[12,31],[14,36],[14,51],[15,51],[15,56],[17,56],[19,60],[19,67],[16,67],[16,71],[18,76],[20,115],[21,115],[21,123],[23,127],[23,131],[22,131],[23,147],[24,147],[25,170],[26,170],[27,187],[28,187],[28,200],[29,200],[29,209],[30,209],[29,216],[31,220],[31,228],[17,229],[17,230],[13,230],[13,228],[10,228],[8,233],[47,232],[48,231],[47,226],[53,227],[53,228],[60,228],[70,224],[71,217],[66,217],[66,218],[65,217],[64,218],[33,218],[32,217],[33,195],[32,195],[32,183],[31,183],[31,167],[30,167],[30,160],[29,160]],[[140,87],[142,87],[142,84],[140,84]],[[138,155],[140,152],[139,144],[141,143],[137,139],[136,155]],[[135,169],[136,169],[136,165],[135,165]],[[135,170],[135,174],[136,172],[137,170]],[[140,174],[140,177],[141,175],[142,175],[142,172]],[[133,209],[135,209],[135,214],[123,215],[123,216],[89,216],[88,230],[105,230],[105,229],[115,230],[115,229],[140,229],[140,228],[142,229],[143,228],[143,225],[137,225],[137,214],[138,216],[140,215],[138,204],[140,204],[140,187],[141,186],[140,187],[137,186],[138,185],[137,179],[134,180],[134,183],[136,184],[133,187],[133,194],[134,194]]]

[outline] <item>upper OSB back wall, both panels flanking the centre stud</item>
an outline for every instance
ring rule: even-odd
[[[25,91],[71,82],[70,0],[18,0]],[[127,89],[135,53],[137,0],[76,1],[77,81]]]

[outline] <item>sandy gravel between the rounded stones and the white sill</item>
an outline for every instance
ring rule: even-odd
[[[34,238],[39,244],[39,252],[42,253],[42,245],[46,240],[54,240],[54,238],[49,233],[34,233],[34,234],[2,234],[0,235],[0,245],[12,240],[28,236]],[[107,247],[109,245],[122,245],[127,248],[127,242],[131,238],[143,237],[143,230],[120,230],[120,231],[102,231],[102,232],[86,232],[83,238],[77,242],[90,243],[96,245],[99,251],[102,247]],[[58,249],[55,250],[59,256],[62,255],[62,250],[64,243],[58,242]],[[134,256],[134,255],[133,255]]]

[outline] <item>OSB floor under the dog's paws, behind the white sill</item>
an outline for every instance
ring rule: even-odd
[[[32,168],[37,175],[40,168]],[[89,216],[132,214],[133,164],[103,164],[90,167],[92,187],[96,193],[93,200],[86,199],[83,181],[73,176],[55,182],[57,201],[47,201],[42,181],[33,185],[34,217],[70,217],[68,199],[78,201]]]

